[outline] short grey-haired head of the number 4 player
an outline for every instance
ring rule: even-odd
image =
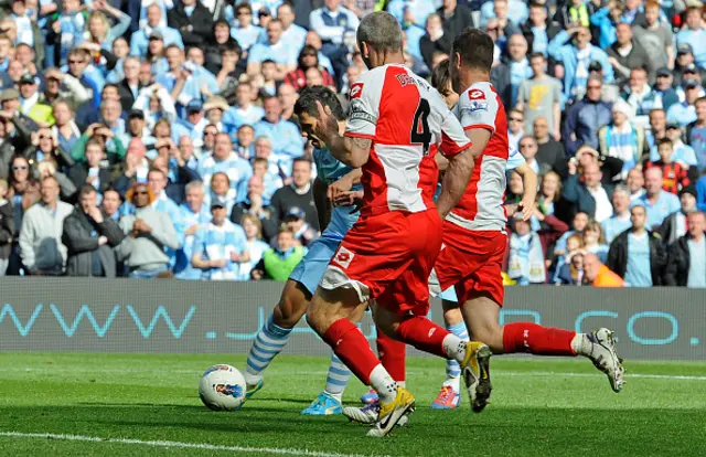
[[[402,56],[402,29],[388,12],[377,11],[363,18],[357,26],[356,40],[368,68],[384,65],[386,57],[392,54]]]

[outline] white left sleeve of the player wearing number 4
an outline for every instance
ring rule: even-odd
[[[383,76],[379,72],[366,72],[351,85],[349,121],[345,127],[346,137],[367,139],[375,137],[384,83]]]

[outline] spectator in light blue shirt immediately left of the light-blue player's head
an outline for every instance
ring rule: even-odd
[[[291,169],[291,161],[304,152],[299,128],[281,117],[279,98],[265,99],[265,118],[255,125],[256,137],[268,137],[272,144],[272,158],[282,161]]]

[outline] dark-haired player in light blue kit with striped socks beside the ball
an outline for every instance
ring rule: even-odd
[[[360,184],[361,170],[353,170],[333,158],[329,150],[322,148],[323,145],[312,135],[311,123],[314,123],[315,118],[309,116],[308,111],[311,111],[312,107],[315,109],[317,100],[331,108],[342,129],[345,128],[345,115],[335,94],[324,87],[306,88],[301,92],[295,106],[295,114],[299,116],[301,124],[302,136],[308,137],[314,147],[313,160],[317,164],[319,179],[329,184],[328,196],[333,202],[334,209],[331,222],[321,237],[309,246],[308,254],[289,276],[272,315],[253,342],[244,372],[247,384],[246,397],[248,398],[263,387],[261,372],[287,344],[292,328],[307,311],[309,301],[311,301],[311,297],[341,240],[359,217],[357,208],[353,203],[355,199],[363,195],[363,187]],[[308,408],[302,411],[302,414],[341,414],[341,397],[350,376],[349,369],[333,354],[325,390]]]

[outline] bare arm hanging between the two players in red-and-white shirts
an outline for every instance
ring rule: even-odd
[[[463,195],[473,172],[475,158],[480,157],[483,149],[485,149],[491,132],[484,128],[473,128],[467,130],[466,136],[471,140],[471,147],[457,156],[446,158],[449,164],[443,174],[441,193],[437,201],[437,211],[442,219],[447,216],[449,211],[459,202],[461,195]]]

